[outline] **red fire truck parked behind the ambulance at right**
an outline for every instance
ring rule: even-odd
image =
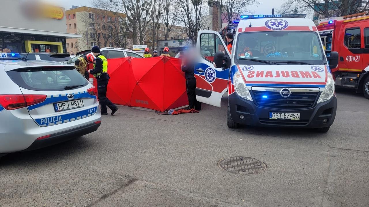
[[[369,13],[315,21],[325,54],[339,53],[335,85],[354,88],[369,99]]]

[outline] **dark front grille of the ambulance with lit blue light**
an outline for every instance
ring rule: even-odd
[[[288,98],[277,91],[252,91],[257,106],[270,109],[307,109],[314,106],[319,92],[292,92]]]

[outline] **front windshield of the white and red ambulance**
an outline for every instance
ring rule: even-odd
[[[245,32],[238,35],[235,51],[241,64],[250,64],[248,59],[281,62],[279,64],[324,62],[321,42],[316,32]],[[265,63],[254,61],[253,64]]]

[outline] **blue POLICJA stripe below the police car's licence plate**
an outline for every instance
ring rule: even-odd
[[[52,126],[52,125],[72,122],[78,119],[83,119],[83,118],[92,116],[96,113],[96,111],[97,111],[97,106],[90,108],[90,109],[85,109],[79,112],[68,113],[68,114],[59,115],[59,116],[45,117],[41,119],[35,119],[35,121],[37,122],[39,126]]]

